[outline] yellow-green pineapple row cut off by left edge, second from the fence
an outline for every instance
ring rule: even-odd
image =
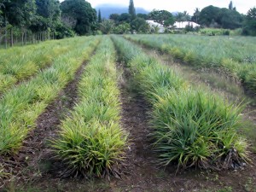
[[[84,60],[88,60],[100,38],[70,41],[70,51],[55,59],[51,67],[4,93],[0,100],[0,155],[17,152],[36,119],[44,112]]]

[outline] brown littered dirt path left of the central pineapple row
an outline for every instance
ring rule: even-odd
[[[40,181],[49,172],[60,174],[58,162],[53,160],[54,154],[49,147],[49,141],[57,137],[61,119],[64,119],[68,111],[78,102],[78,85],[85,65],[86,62],[79,67],[74,75],[75,78],[61,90],[55,101],[51,102],[38,117],[36,128],[23,142],[19,154],[5,157],[3,160],[0,158],[6,172],[12,174],[12,177],[5,181],[6,183],[32,184]]]

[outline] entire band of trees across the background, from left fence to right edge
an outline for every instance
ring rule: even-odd
[[[195,21],[201,26],[236,29],[241,27],[245,35],[256,35],[256,8],[241,15],[230,2],[228,8],[212,5],[195,9],[194,15],[180,12],[172,15],[167,10],[154,9],[148,15],[136,14],[133,0],[128,13],[112,14],[102,19],[101,11],[93,9],[85,0],[0,0],[0,44],[28,44],[47,39],[66,38],[95,33],[148,33],[157,32],[146,20],[154,20],[163,26],[175,21]]]

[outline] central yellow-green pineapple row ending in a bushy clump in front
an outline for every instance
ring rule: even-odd
[[[53,142],[56,156],[67,167],[64,175],[118,173],[127,135],[120,126],[117,82],[113,43],[105,37],[82,74],[79,102]]]

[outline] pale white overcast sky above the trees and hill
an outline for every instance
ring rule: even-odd
[[[128,7],[130,0],[87,0],[92,7],[104,3],[125,5]],[[219,8],[228,8],[230,0],[133,0],[135,7],[140,7],[151,11],[152,9],[166,9],[170,12],[184,10],[193,15],[195,8],[203,9],[208,5],[213,5]],[[256,0],[234,0],[233,6],[241,14],[247,14],[247,11],[256,7]]]

